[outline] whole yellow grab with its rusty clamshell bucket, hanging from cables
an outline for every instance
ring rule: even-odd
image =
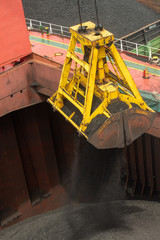
[[[154,111],[143,101],[112,33],[92,22],[70,32],[58,91],[48,102],[96,148],[129,145],[151,126]],[[77,42],[82,58],[75,53]]]

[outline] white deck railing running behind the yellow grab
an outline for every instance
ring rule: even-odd
[[[62,37],[71,36],[69,27],[64,27],[53,23],[26,18],[26,25],[30,30],[40,31],[43,27],[44,31],[46,31],[45,29],[48,28],[50,34],[55,34]],[[151,59],[153,55],[156,55],[160,58],[160,49],[151,47],[149,44],[141,45],[117,38],[115,38],[114,43],[116,48],[121,52],[128,52],[137,56],[147,57],[149,59]]]

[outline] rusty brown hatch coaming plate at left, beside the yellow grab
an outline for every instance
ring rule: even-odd
[[[0,74],[0,117],[46,101],[57,90],[60,75],[60,65],[36,54]]]

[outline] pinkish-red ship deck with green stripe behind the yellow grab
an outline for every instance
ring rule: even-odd
[[[65,55],[69,45],[69,38],[62,38],[61,36],[50,35],[45,33],[29,32],[32,51],[41,56],[45,56],[60,64],[64,63]],[[82,57],[80,45],[76,45],[76,53]],[[139,60],[126,53],[120,53],[125,64],[127,65],[137,87],[139,90],[150,93],[157,92],[160,94],[160,67]],[[143,78],[143,71],[147,68],[148,79]]]

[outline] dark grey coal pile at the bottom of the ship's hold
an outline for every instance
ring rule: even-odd
[[[70,205],[27,219],[0,232],[0,239],[12,240],[157,240],[160,229],[160,206],[156,202],[117,201],[112,207],[122,209],[115,219],[118,226],[98,227],[99,219],[93,215],[96,205]],[[66,215],[72,221],[66,220]],[[105,216],[106,222],[108,216]],[[91,223],[91,224],[89,224]]]

